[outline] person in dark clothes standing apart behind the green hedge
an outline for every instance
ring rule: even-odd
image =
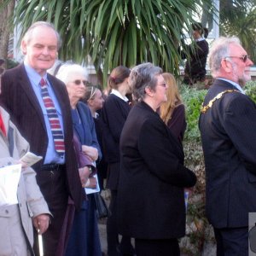
[[[182,58],[187,59],[184,69],[184,84],[195,84],[196,82],[204,82],[206,80],[207,55],[209,53],[209,45],[207,43],[208,29],[203,27],[201,23],[192,24],[192,36],[195,42],[184,45],[186,52],[182,52]]]

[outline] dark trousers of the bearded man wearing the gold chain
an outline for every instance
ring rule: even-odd
[[[247,256],[248,227],[214,229],[217,256]]]

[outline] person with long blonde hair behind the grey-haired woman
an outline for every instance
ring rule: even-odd
[[[170,128],[173,135],[182,143],[187,127],[185,107],[178,92],[176,79],[172,73],[162,73],[166,84],[167,101],[160,106],[160,118]]]

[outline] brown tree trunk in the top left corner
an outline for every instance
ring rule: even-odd
[[[0,57],[7,59],[9,48],[9,36],[12,34],[10,17],[14,14],[15,0],[10,0],[5,7],[6,0],[0,0]]]

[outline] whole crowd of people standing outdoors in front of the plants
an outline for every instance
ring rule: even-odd
[[[193,29],[205,69],[207,30]],[[105,96],[78,64],[48,72],[60,48],[55,27],[38,21],[21,40],[24,61],[0,68],[0,167],[21,169],[15,203],[0,201],[0,255],[101,256],[94,192],[105,179],[108,256],[180,255],[184,193],[196,176],[184,166],[187,124],[176,79],[152,63],[119,66]],[[199,120],[207,218],[217,255],[243,256],[248,212],[256,212],[256,106],[242,90],[253,62],[238,38],[218,38],[209,65],[215,81]],[[186,74],[188,83],[206,75],[189,66]],[[27,166],[20,161],[27,152],[42,160]]]

